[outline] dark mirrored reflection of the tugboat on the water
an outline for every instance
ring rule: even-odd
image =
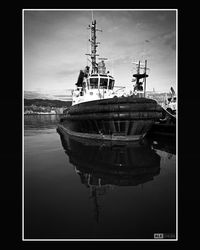
[[[137,186],[149,182],[160,173],[160,156],[147,140],[113,143],[72,138],[59,129],[57,132],[81,183],[90,189],[97,222],[101,196],[115,186]]]

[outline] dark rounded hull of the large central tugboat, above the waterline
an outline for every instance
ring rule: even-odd
[[[120,97],[71,106],[59,127],[72,136],[130,141],[144,137],[161,117],[154,100]]]

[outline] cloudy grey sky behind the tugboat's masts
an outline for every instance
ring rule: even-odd
[[[24,91],[62,99],[89,63],[90,30],[97,28],[99,57],[117,86],[131,86],[133,62],[147,60],[147,91],[176,90],[175,10],[24,10]]]

